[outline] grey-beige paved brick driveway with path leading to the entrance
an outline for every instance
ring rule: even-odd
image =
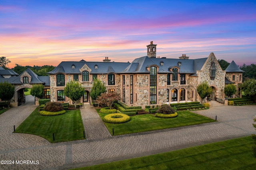
[[[34,108],[33,105],[25,104],[0,115],[0,160],[14,160],[14,164],[0,164],[0,169],[70,169],[255,133],[252,126],[253,117],[256,116],[255,105],[221,106],[195,111],[212,119],[217,115],[218,122],[215,123],[113,137],[110,137],[110,134],[98,134],[104,130],[104,127],[101,127],[102,122],[98,120],[99,117],[93,109],[84,108],[81,113],[89,140],[50,144],[38,136],[12,133],[13,125],[18,126]],[[94,136],[90,136],[91,134]],[[28,162],[25,164],[19,160]],[[17,164],[16,161],[22,164]]]

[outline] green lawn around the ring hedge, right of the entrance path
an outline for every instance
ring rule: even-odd
[[[96,109],[99,113],[100,109]],[[105,123],[109,132],[112,134],[114,128],[114,136],[121,134],[130,134],[137,132],[146,132],[151,130],[160,130],[166,128],[184,127],[190,125],[198,125],[202,123],[215,122],[215,120],[201,115],[197,115],[190,111],[178,111],[178,117],[164,119],[155,117],[154,115],[136,115],[131,116],[130,121],[120,124]],[[101,119],[108,115],[106,113],[99,113]],[[113,134],[112,134],[113,135]]]

